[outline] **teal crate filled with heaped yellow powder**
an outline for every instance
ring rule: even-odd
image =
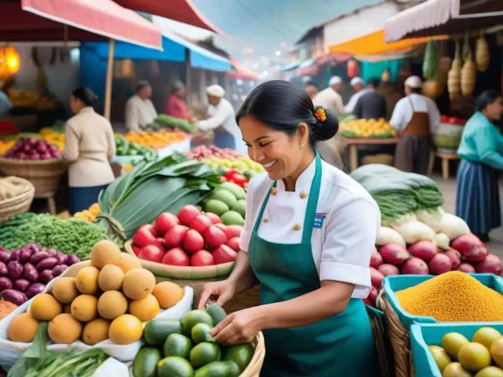
[[[470,273],[471,276],[475,277],[484,286],[493,289],[503,295],[503,278],[496,276],[492,273]],[[390,305],[393,307],[394,311],[398,315],[398,319],[402,323],[403,327],[409,329],[414,323],[438,323],[432,317],[414,316],[405,312],[396,298],[395,292],[404,290],[416,286],[423,281],[429,280],[434,275],[394,275],[386,276],[383,280],[384,291],[386,292],[386,298],[388,299]],[[446,322],[443,322],[446,323]]]

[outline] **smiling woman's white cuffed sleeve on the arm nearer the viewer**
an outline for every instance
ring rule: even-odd
[[[367,297],[371,288],[370,256],[381,223],[379,207],[372,199],[352,197],[327,221],[320,280],[354,284],[353,297]]]

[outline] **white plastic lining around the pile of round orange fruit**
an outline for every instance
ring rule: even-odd
[[[36,296],[35,296],[36,297]],[[26,349],[31,345],[31,343],[19,343],[12,342],[7,337],[7,329],[9,324],[14,317],[24,313],[30,307],[31,302],[27,301],[19,308],[14,310],[11,314],[0,321],[0,366],[4,370],[9,370],[11,366],[16,362],[16,360],[21,356],[21,354],[26,351]],[[160,310],[159,314],[155,317],[156,319],[177,319],[180,320],[186,313],[192,310],[192,304],[194,301],[194,290],[191,287],[184,287],[184,297],[180,302],[178,302],[174,307],[166,310]],[[145,327],[146,322],[143,323]],[[132,361],[141,346],[143,345],[143,340],[138,340],[137,342],[119,345],[113,343],[110,339],[104,340],[103,342],[97,343],[94,346],[89,346],[82,341],[78,340],[71,344],[55,344],[48,343],[47,350],[55,352],[78,352],[86,351],[91,348],[101,348],[108,355],[115,357],[117,360],[122,362]]]

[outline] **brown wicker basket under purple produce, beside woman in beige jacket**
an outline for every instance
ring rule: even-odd
[[[5,175],[15,175],[28,179],[35,187],[35,196],[54,193],[59,185],[61,174],[67,169],[60,159],[15,160],[0,157],[0,170]]]

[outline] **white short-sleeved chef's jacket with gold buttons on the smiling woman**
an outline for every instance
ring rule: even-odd
[[[271,242],[300,243],[302,229],[306,226],[313,227],[311,247],[320,281],[354,284],[356,287],[352,297],[363,299],[372,287],[369,263],[381,225],[379,207],[370,194],[349,175],[324,161],[321,164],[321,189],[316,208],[317,214],[326,216],[321,228],[315,228],[314,224],[303,224],[315,172],[313,160],[297,179],[295,192],[285,191],[283,180],[279,180],[276,195],[270,195],[273,181],[267,173],[251,179],[239,246],[243,251],[248,251],[257,216],[266,195],[269,195],[263,218],[260,219],[258,235]],[[300,225],[300,229],[295,230],[298,228],[295,225]]]

